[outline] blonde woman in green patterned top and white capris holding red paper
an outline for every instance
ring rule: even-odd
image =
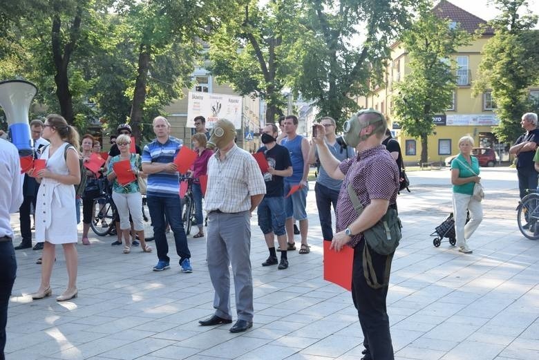
[[[122,185],[117,181],[116,173],[114,172],[115,162],[129,160],[131,163],[131,171],[136,176],[143,176],[141,170],[140,155],[136,153],[130,153],[129,148],[131,144],[131,138],[128,135],[120,135],[116,138],[116,145],[120,149],[120,155],[116,155],[111,159],[108,164],[108,173],[106,178],[109,181],[113,181],[113,200],[120,216],[120,231],[122,231],[122,237],[124,238],[124,254],[131,252],[131,242],[129,240],[129,230],[131,224],[129,222],[129,214],[133,219],[133,229],[135,230],[140,240],[140,247],[143,252],[151,252],[151,247],[144,241],[144,222],[142,222],[142,195],[138,187],[138,182],[135,178],[129,184]]]

